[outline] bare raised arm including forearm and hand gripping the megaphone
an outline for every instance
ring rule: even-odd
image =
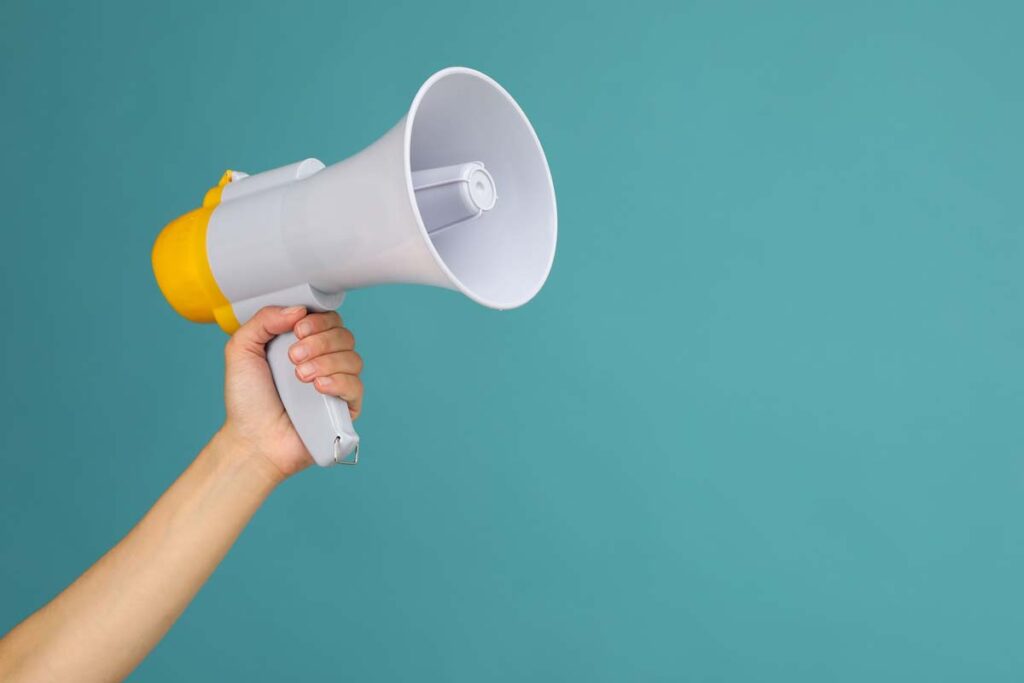
[[[278,398],[265,345],[294,330],[296,375],[362,405],[362,360],[337,313],[264,308],[227,342],[226,420],[146,515],[0,640],[0,680],[120,681],[156,646],[285,479],[312,464]]]

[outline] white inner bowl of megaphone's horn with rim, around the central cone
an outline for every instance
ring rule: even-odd
[[[492,308],[532,299],[551,271],[558,218],[544,150],[516,101],[479,72],[445,69],[417,93],[406,138],[410,169],[479,161],[498,188],[493,210],[428,236],[450,286]]]

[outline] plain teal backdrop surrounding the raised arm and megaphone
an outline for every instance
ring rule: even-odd
[[[362,464],[133,680],[1021,680],[1020,7],[4,3],[0,631],[222,418],[158,230],[460,63],[545,144],[546,289],[353,293]]]

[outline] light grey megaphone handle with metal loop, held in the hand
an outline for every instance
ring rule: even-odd
[[[352,427],[348,403],[337,396],[325,396],[295,376],[288,349],[296,341],[295,334],[289,332],[266,345],[281,402],[317,465],[354,465],[359,462],[359,435]]]

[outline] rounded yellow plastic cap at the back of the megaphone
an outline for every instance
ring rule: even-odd
[[[203,206],[168,223],[153,245],[153,271],[174,310],[194,323],[216,322],[228,334],[239,329],[239,321],[210,268],[206,230],[230,180],[231,172],[226,171],[206,194]]]

